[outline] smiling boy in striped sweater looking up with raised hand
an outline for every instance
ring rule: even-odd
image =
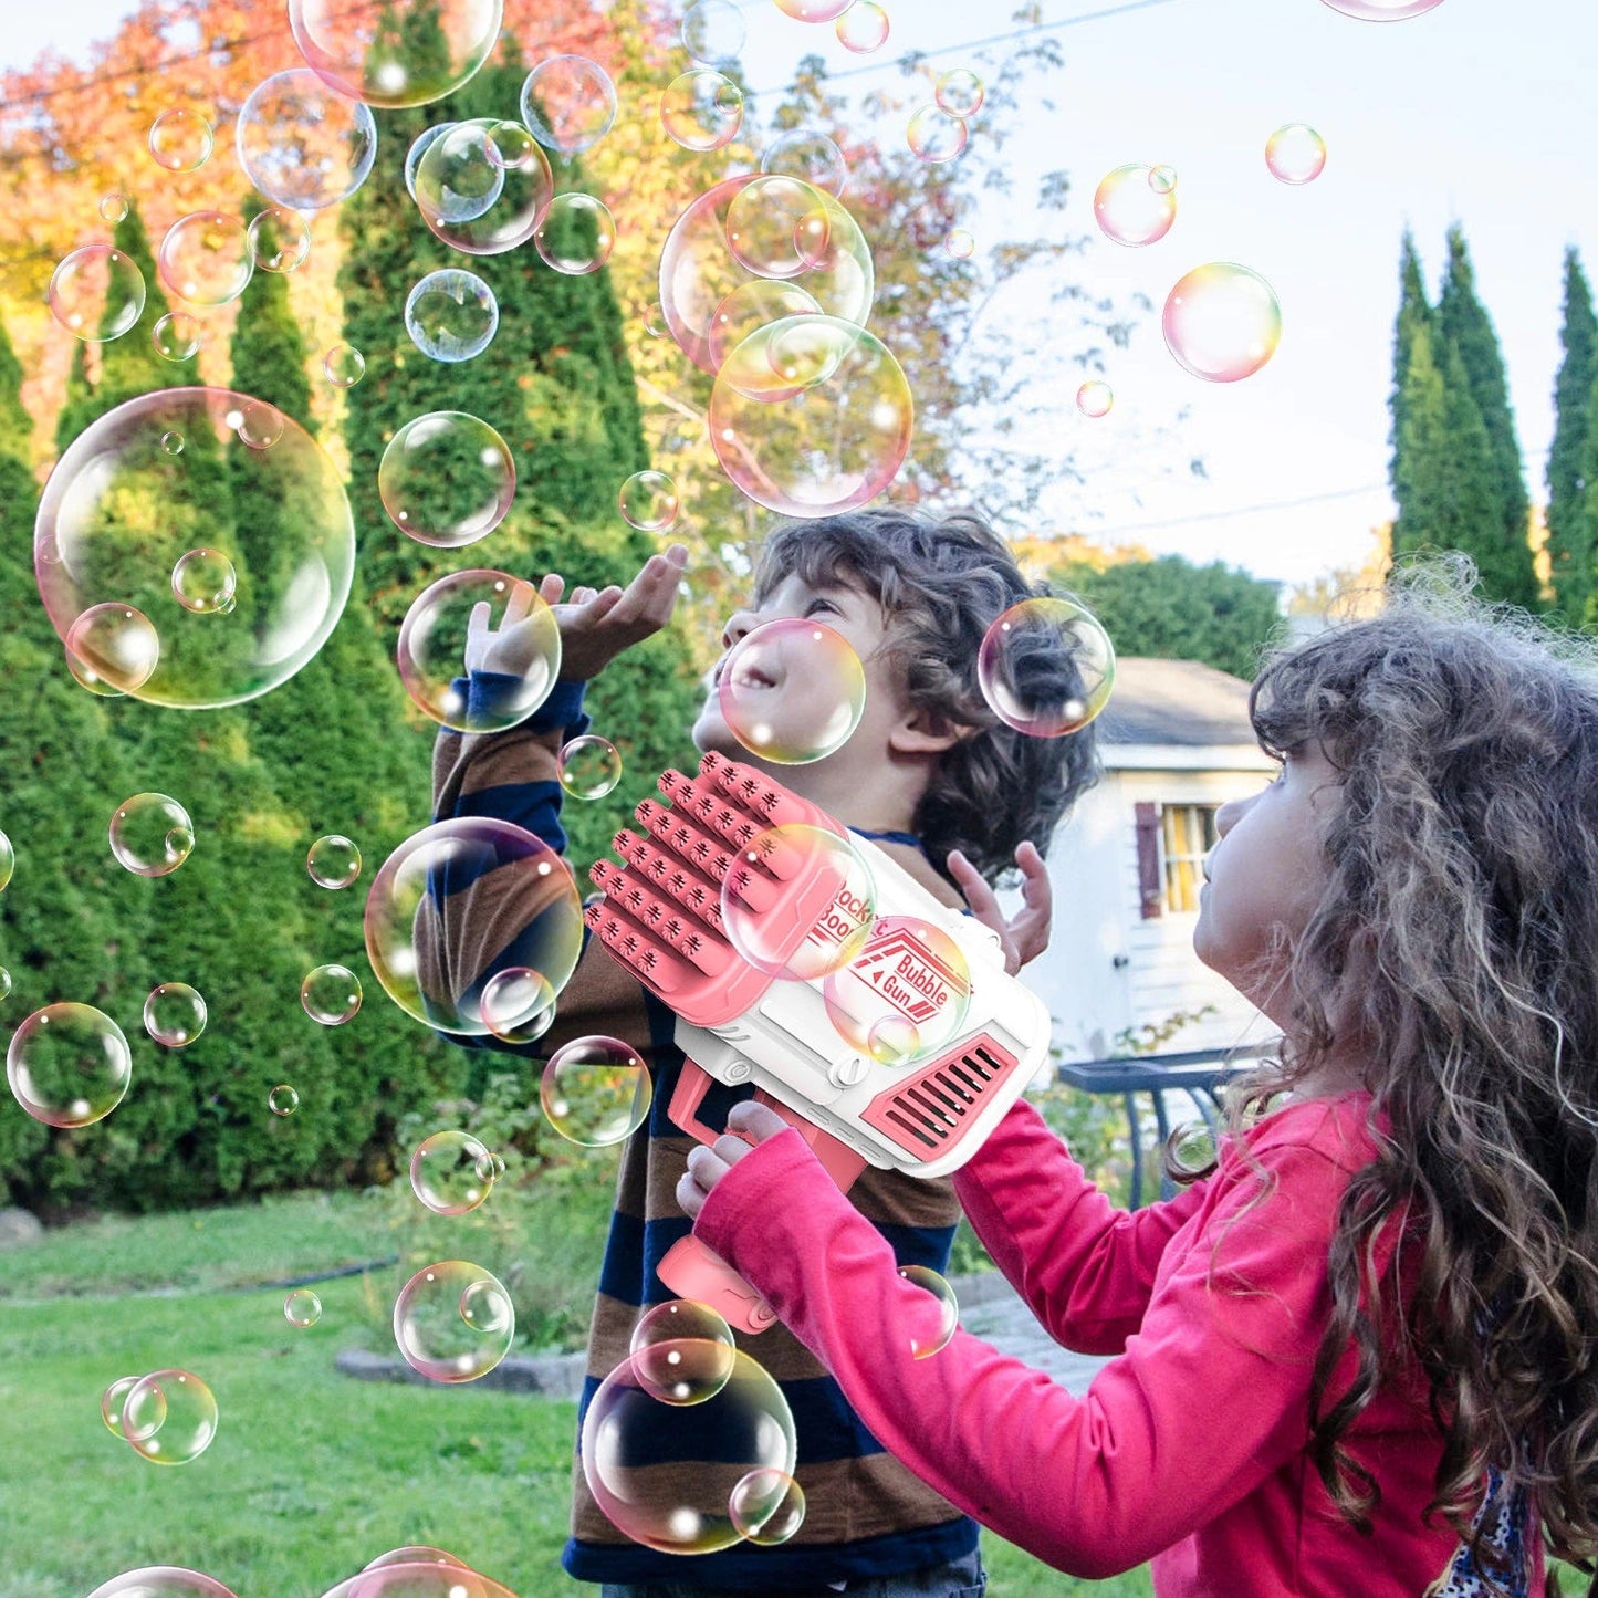
[[[626,591],[577,588],[569,604],[559,604],[561,577],[542,580],[540,596],[556,606],[561,626],[562,681],[529,721],[508,732],[439,735],[438,820],[495,815],[564,849],[555,761],[561,745],[590,725],[582,714],[582,684],[670,620],[686,559],[687,550],[673,545],[652,556]],[[1069,738],[1029,738],[999,722],[976,686],[976,654],[988,626],[1034,591],[1004,542],[975,516],[936,519],[880,508],[781,526],[761,551],[751,607],[727,622],[722,660],[764,622],[818,617],[855,647],[865,666],[861,721],[825,759],[764,762],[722,719],[718,663],[694,725],[702,751],[718,749],[754,765],[821,805],[890,853],[941,903],[960,904],[956,888],[964,888],[973,911],[1000,930],[1013,964],[1047,943],[1040,847],[1047,849],[1055,823],[1095,777],[1091,729]],[[473,628],[467,665],[475,690],[492,687],[492,676],[484,681],[481,674],[524,665],[516,614],[510,609],[497,631],[486,618]],[[1056,668],[1072,670],[1069,662]],[[1026,908],[1005,924],[989,882],[1012,858],[1026,880]],[[494,927],[492,919],[487,887],[454,912],[446,908],[451,949],[503,949],[516,928]],[[462,930],[467,924],[470,938]],[[566,1039],[610,1034],[634,1047],[654,1077],[650,1119],[623,1151],[582,1413],[626,1357],[639,1315],[671,1298],[655,1266],[690,1230],[673,1197],[695,1147],[666,1117],[682,1067],[673,1024],[671,1012],[590,940],[559,996],[550,1034],[523,1048],[543,1056]],[[714,1123],[745,1096],[746,1090],[716,1087],[702,1115]],[[849,1197],[888,1237],[901,1266],[948,1267],[959,1219],[948,1179],[920,1181],[868,1165]],[[882,1451],[786,1328],[740,1336],[740,1346],[781,1385],[793,1409],[807,1505],[797,1534],[778,1547],[740,1542],[697,1558],[660,1553],[626,1540],[606,1520],[578,1464],[572,1539],[562,1556],[567,1572],[604,1584],[604,1598],[980,1595],[986,1577],[975,1521]]]

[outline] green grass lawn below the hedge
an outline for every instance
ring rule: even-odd
[[[518,1296],[591,1296],[598,1253],[586,1274],[569,1262],[591,1210],[582,1194],[548,1200],[548,1285]],[[385,1198],[305,1197],[86,1222],[0,1254],[0,1595],[86,1598],[118,1571],[187,1564],[240,1598],[318,1598],[406,1542],[449,1548],[521,1598],[596,1592],[559,1569],[572,1405],[339,1376],[339,1349],[385,1346],[398,1266],[369,1288],[320,1283],[305,1331],[283,1318],[284,1290],[251,1286],[431,1243],[395,1214]],[[165,1365],[201,1376],[221,1409],[216,1441],[182,1467],[141,1459],[99,1417],[110,1381]],[[996,1598],[1149,1593],[1144,1572],[1074,1582],[991,1536],[984,1558]]]

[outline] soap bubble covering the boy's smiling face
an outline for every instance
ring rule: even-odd
[[[721,718],[751,754],[807,765],[841,749],[866,708],[855,647],[813,617],[745,633],[718,673]]]

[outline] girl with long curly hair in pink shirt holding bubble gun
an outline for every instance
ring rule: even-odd
[[[1023,1101],[956,1176],[1051,1336],[1120,1355],[1083,1397],[914,1358],[927,1294],[770,1112],[690,1155],[697,1234],[873,1433],[1059,1569],[1520,1598],[1598,1550],[1598,678],[1472,578],[1254,684],[1282,773],[1222,807],[1194,944],[1285,1036],[1218,1162],[1117,1211]]]

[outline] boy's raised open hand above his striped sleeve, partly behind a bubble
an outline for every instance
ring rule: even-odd
[[[562,604],[566,578],[550,572],[539,582],[537,594],[555,612],[561,630],[561,676],[588,682],[625,649],[658,633],[678,604],[678,582],[687,566],[687,545],[673,543],[652,555],[626,585],[614,583],[598,593],[574,588]],[[491,607],[478,604],[467,618],[467,671],[503,671],[524,676],[539,647],[539,628],[529,620],[534,588],[516,583],[497,628],[489,625]]]

